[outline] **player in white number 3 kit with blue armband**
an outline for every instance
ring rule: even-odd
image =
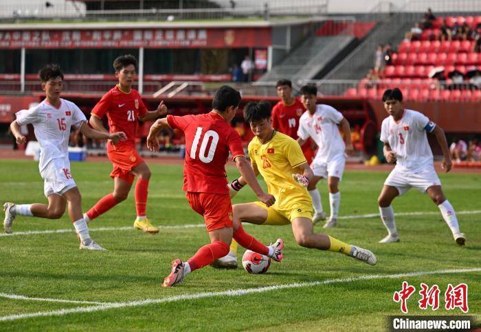
[[[381,141],[384,143],[386,160],[396,163],[396,166],[385,180],[378,199],[381,219],[389,232],[379,243],[399,241],[391,202],[396,196],[415,187],[427,193],[438,206],[454,240],[463,246],[465,235],[460,232],[456,212],[441,189],[441,182],[434,170],[431,147],[427,143],[426,132],[434,134],[443,150],[442,167],[448,172],[452,162],[444,131],[420,112],[403,108],[402,101],[403,94],[399,88],[384,91],[384,108],[390,116],[383,120]]]

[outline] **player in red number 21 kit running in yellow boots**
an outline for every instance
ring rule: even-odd
[[[89,123],[96,130],[108,132],[104,128],[102,118],[107,115],[109,119],[110,132],[122,130],[127,135],[126,141],[116,145],[107,143],[107,156],[113,165],[110,176],[113,178],[113,193],[101,198],[87,213],[84,214],[85,220],[90,222],[102,213],[105,213],[126,200],[128,192],[131,190],[134,177],[137,176],[135,185],[135,209],[137,219],[133,226],[146,233],[157,234],[159,228],[153,226],[146,216],[148,180],[150,179],[150,169],[148,169],[142,156],[135,149],[135,129],[137,119],[140,121],[150,121],[161,115],[166,115],[167,108],[161,102],[157,110],[148,112],[142,102],[142,97],[138,91],[132,88],[137,68],[137,59],[131,54],[119,56],[113,62],[115,76],[119,83],[106,93],[100,102],[96,104],[91,112]]]

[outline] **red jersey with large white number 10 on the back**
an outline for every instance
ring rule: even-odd
[[[221,115],[167,116],[172,129],[186,135],[186,162],[183,167],[183,190],[197,193],[229,194],[225,164],[229,158],[244,156],[240,136]]]

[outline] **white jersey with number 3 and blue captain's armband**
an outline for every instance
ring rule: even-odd
[[[416,172],[433,165],[426,132],[432,132],[435,127],[435,123],[416,110],[405,109],[397,122],[392,116],[383,120],[381,141],[389,143],[396,153],[396,168]]]

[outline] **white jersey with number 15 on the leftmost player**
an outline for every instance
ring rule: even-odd
[[[38,169],[43,171],[48,163],[63,158],[69,163],[68,147],[71,126],[80,126],[87,121],[76,104],[60,99],[60,107],[55,108],[45,100],[28,110],[16,112],[20,126],[32,123],[35,137],[40,144]]]

